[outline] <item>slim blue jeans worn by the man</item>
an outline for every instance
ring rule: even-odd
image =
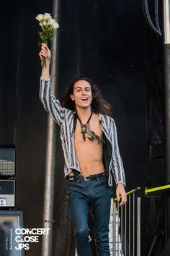
[[[88,213],[94,217],[98,256],[109,256],[109,215],[112,187],[107,176],[84,182],[68,182],[69,206],[75,228],[79,256],[92,256],[89,243]]]

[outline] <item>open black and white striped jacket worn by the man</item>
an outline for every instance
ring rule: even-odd
[[[51,93],[50,77],[40,79],[40,101],[48,114],[61,127],[61,143],[65,159],[65,178],[74,169],[81,173],[79,163],[76,159],[74,148],[75,112],[61,107],[60,102]],[[108,184],[112,186],[113,179],[116,184],[125,184],[125,174],[117,143],[117,130],[115,121],[110,116],[99,114],[100,127],[104,133],[104,168],[108,175]]]

